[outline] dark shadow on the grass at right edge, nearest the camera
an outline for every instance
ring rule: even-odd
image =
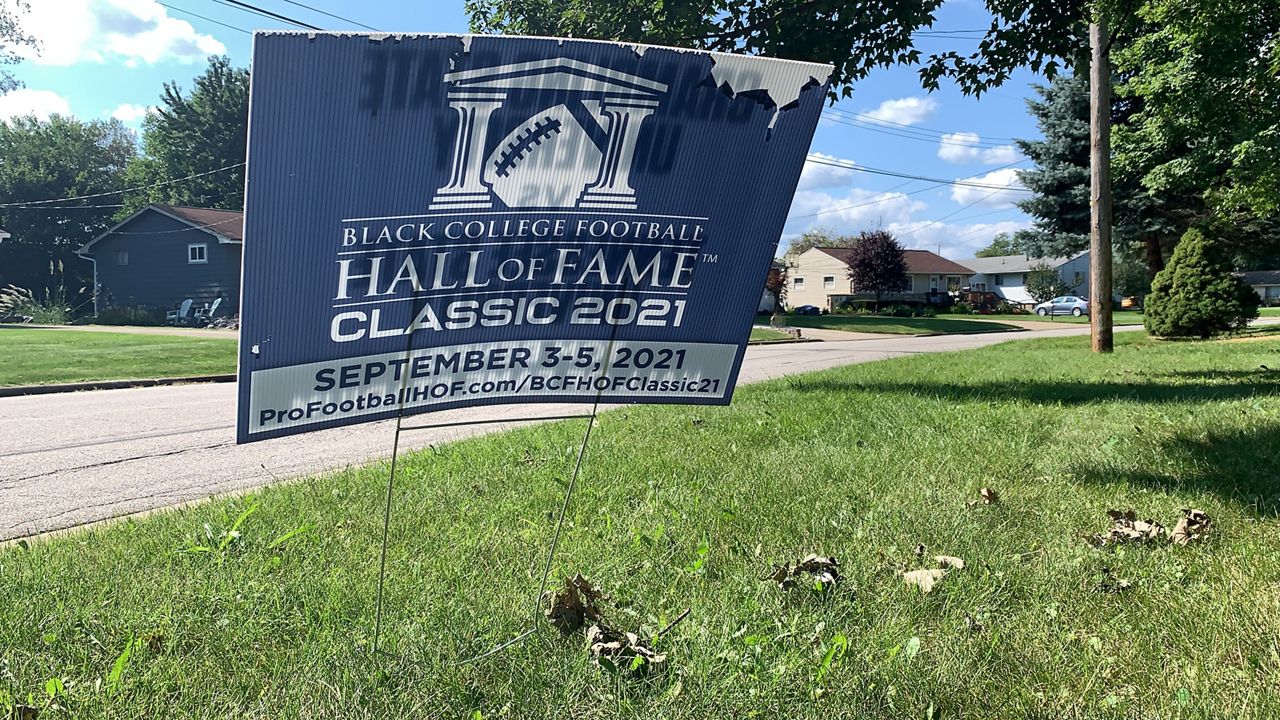
[[[1152,489],[1185,488],[1236,501],[1257,516],[1280,518],[1280,424],[1230,433],[1178,434],[1160,442],[1176,473],[1112,466],[1071,468],[1085,482],[1126,482]]]

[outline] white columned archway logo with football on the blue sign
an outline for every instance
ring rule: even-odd
[[[449,181],[431,210],[635,210],[631,170],[640,128],[667,92],[660,82],[568,58],[445,73],[458,111]],[[509,128],[493,115],[511,94],[547,97]],[[503,132],[488,154],[490,131]]]

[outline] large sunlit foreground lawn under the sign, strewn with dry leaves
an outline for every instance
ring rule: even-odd
[[[567,421],[406,456],[397,657],[367,655],[375,465],[0,548],[0,698],[38,703],[58,678],[67,710],[41,720],[1280,716],[1280,341],[1116,342],[923,355],[746,387],[730,407],[603,415],[554,575],[581,571],[644,634],[691,610],[648,678],[556,632],[454,665],[529,619],[582,433]],[[982,487],[1001,502],[966,509]],[[255,507],[224,552],[186,551]],[[1111,507],[1170,527],[1199,507],[1213,528],[1189,547],[1093,550],[1080,536]],[[806,552],[838,557],[835,591],[760,582]],[[968,566],[922,596],[897,571],[932,555]],[[1132,588],[1105,592],[1107,574]]]

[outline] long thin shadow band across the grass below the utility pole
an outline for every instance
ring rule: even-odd
[[[922,382],[855,382],[795,379],[788,384],[801,392],[877,392],[937,397],[952,402],[1033,402],[1087,405],[1091,402],[1212,402],[1280,395],[1280,373],[1207,372],[1185,377],[1224,378],[1226,382],[983,382],[968,384]]]

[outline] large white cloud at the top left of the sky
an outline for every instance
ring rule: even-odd
[[[169,17],[156,0],[59,0],[32,3],[22,28],[40,44],[19,53],[42,65],[120,60],[127,67],[196,63],[227,53],[210,35]]]

